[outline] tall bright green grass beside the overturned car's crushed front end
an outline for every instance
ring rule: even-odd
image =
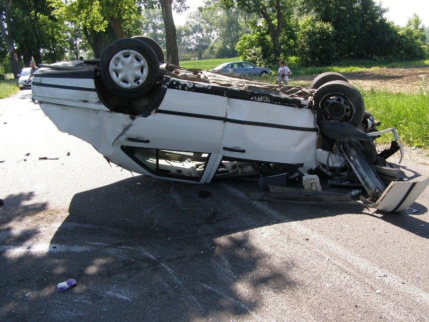
[[[408,146],[429,148],[429,94],[361,91],[365,108],[381,121],[379,130],[396,127]],[[386,136],[384,136],[386,137]],[[388,142],[391,138],[385,138]]]

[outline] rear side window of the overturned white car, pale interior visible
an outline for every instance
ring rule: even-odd
[[[199,181],[209,154],[121,146],[131,159],[147,171],[164,177]]]

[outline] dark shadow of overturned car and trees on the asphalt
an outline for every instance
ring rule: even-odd
[[[273,217],[232,195],[231,186],[246,191],[254,182],[202,186],[136,176],[76,194],[49,251],[2,253],[0,319],[256,318],[253,312],[263,306],[266,294],[291,292],[300,281],[288,273],[298,263],[272,263],[272,256],[254,244],[252,234],[260,233],[254,228],[362,214],[361,206],[283,205]],[[8,200],[16,204],[14,221],[28,214],[43,216],[46,205],[25,206],[30,199],[31,194]],[[382,217],[412,231],[399,218]],[[7,219],[2,223],[5,229]],[[36,233],[14,239],[4,230],[2,243],[24,245],[25,236]],[[427,231],[420,236],[427,238]],[[69,278],[78,286],[56,292],[56,283]]]

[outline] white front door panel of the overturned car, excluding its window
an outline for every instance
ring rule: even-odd
[[[227,113],[220,154],[307,169],[315,164],[317,127],[311,109],[229,99]]]

